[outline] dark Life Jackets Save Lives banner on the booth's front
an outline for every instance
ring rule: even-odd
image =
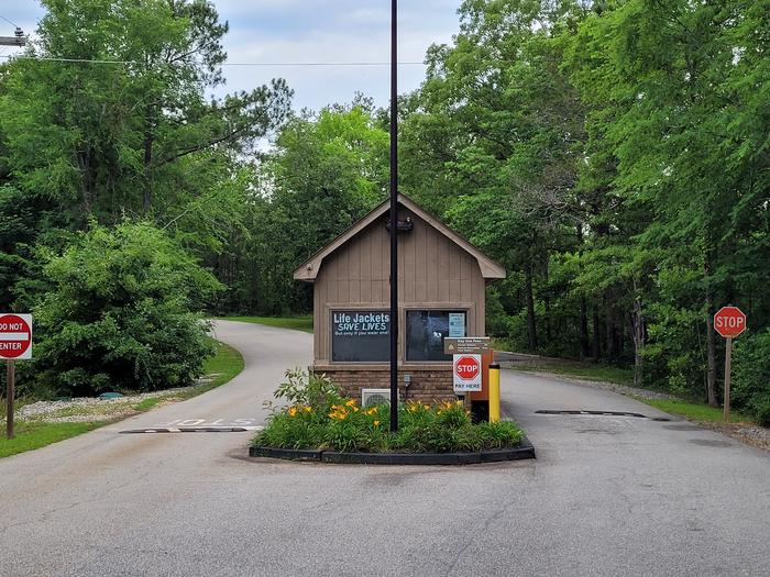
[[[332,311],[331,357],[336,363],[391,358],[391,313],[383,310]]]

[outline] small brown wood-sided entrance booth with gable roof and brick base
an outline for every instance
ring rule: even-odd
[[[300,265],[314,282],[314,365],[348,395],[389,387],[389,202]],[[399,393],[453,399],[448,336],[485,335],[485,287],[505,269],[407,197],[398,196]],[[386,395],[386,393],[385,393]]]

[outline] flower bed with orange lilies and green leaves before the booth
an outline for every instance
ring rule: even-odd
[[[524,433],[513,422],[472,423],[461,402],[398,408],[399,429],[389,431],[391,408],[362,408],[323,377],[287,373],[275,392],[287,407],[271,404],[267,425],[253,446],[340,453],[452,453],[516,447]]]

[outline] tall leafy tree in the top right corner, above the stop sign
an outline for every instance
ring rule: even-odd
[[[588,19],[575,42],[578,81],[617,159],[613,186],[650,208],[652,220],[638,241],[660,252],[664,273],[693,280],[661,277],[679,286],[675,300],[696,307],[705,325],[712,404],[717,346],[711,319],[717,302],[743,292],[737,246],[752,245],[767,222],[760,190],[768,185],[768,141],[758,132],[767,121],[756,108],[770,93],[762,80],[762,8],[767,2],[630,0]]]

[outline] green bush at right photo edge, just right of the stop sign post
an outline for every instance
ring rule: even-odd
[[[735,341],[730,399],[736,409],[770,425],[770,330]]]

